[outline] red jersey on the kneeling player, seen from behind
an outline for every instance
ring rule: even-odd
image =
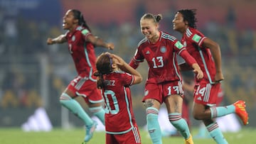
[[[106,133],[127,133],[137,126],[132,110],[132,96],[129,86],[134,82],[134,76],[125,72],[105,74],[105,89],[102,96],[105,99]]]

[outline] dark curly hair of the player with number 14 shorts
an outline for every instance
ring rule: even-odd
[[[196,28],[196,9],[181,9],[177,11],[183,16],[183,21],[188,21],[188,26],[191,28]]]

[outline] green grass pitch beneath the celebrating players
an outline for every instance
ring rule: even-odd
[[[194,128],[196,129],[196,128]],[[196,130],[192,134],[196,134]],[[83,128],[73,128],[63,130],[54,128],[50,132],[23,132],[21,128],[0,128],[1,144],[81,144],[84,138],[85,130]],[[140,131],[143,144],[151,144],[151,140],[146,131]],[[254,144],[256,143],[256,129],[242,128],[238,133],[224,133],[225,138],[230,144]],[[196,139],[195,144],[215,144],[212,139]],[[88,144],[104,144],[105,133],[95,132],[92,140]],[[163,138],[163,143],[183,144],[181,137]]]

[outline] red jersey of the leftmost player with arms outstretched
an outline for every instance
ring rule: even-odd
[[[65,38],[68,40],[68,50],[73,57],[78,74],[91,78],[92,72],[96,70],[96,55],[92,43],[86,41],[88,35],[91,35],[90,31],[78,26],[73,33],[70,31],[65,33]]]

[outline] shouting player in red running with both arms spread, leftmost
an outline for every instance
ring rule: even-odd
[[[90,116],[82,109],[82,106],[75,101],[76,96],[82,96],[89,110],[97,116],[102,123],[105,123],[105,111],[102,109],[102,96],[97,89],[96,77],[93,72],[96,70],[95,46],[101,46],[114,49],[114,44],[105,43],[100,38],[92,35],[87,26],[82,13],[75,9],[70,9],[63,16],[63,29],[68,30],[65,34],[57,38],[48,38],[47,44],[68,43],[68,50],[75,62],[75,69],[78,72],[76,76],[60,96],[60,104],[65,106],[71,112],[78,116],[86,126],[86,135],[84,141],[92,138],[97,123],[92,121]]]

